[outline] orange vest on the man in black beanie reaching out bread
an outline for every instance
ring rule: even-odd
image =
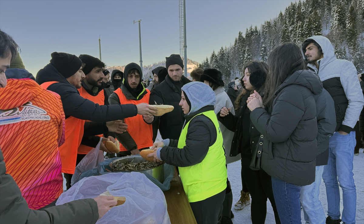
[[[45,82],[40,86],[47,89],[53,83]],[[74,174],[76,168],[77,149],[81,144],[83,136],[83,125],[85,120],[68,117],[65,122],[65,142],[58,148],[62,160],[62,173]]]

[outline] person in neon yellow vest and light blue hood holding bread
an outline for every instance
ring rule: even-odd
[[[182,87],[179,106],[185,114],[179,139],[164,139],[151,148],[154,162],[178,166],[183,188],[198,224],[217,223],[226,191],[226,157],[214,113],[214,91],[202,82]]]

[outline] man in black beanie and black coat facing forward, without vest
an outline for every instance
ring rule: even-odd
[[[185,121],[183,111],[178,105],[179,101],[181,101],[181,88],[191,80],[183,76],[183,61],[180,55],[172,54],[166,57],[166,68],[168,75],[161,84],[155,86],[152,90],[149,104],[154,105],[157,103],[158,105],[174,106],[173,111],[156,117],[155,122],[159,119],[158,127],[163,139],[178,139]],[[154,135],[157,136],[157,133],[153,133]]]

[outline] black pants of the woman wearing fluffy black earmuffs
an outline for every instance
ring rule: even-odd
[[[280,224],[281,221],[278,216],[276,203],[274,201],[272,178],[264,170],[250,169],[250,161],[252,158],[249,156],[242,156],[241,158],[241,172],[244,175],[244,180],[248,186],[250,196],[252,197],[251,215],[253,224],[265,223],[267,214],[267,199],[274,211],[274,218],[276,223]]]

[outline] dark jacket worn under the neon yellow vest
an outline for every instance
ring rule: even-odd
[[[214,110],[214,106],[205,106],[186,115],[186,124],[196,114]],[[161,159],[167,164],[186,167],[196,165],[206,157],[217,139],[216,127],[210,118],[201,114],[191,120],[187,129],[186,146],[179,149],[178,139],[170,139],[169,145],[161,150]],[[224,150],[221,146],[221,150]],[[224,152],[225,153],[225,152]]]

